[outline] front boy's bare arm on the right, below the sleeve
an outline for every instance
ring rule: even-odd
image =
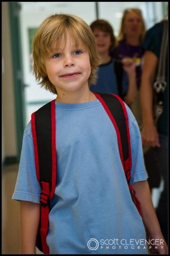
[[[150,249],[151,253],[167,254],[167,244],[162,236],[160,225],[155,214],[148,181],[135,182],[132,185],[132,188],[135,190],[135,195],[141,204],[142,218],[146,229],[147,239],[153,239],[154,242],[157,241],[154,248]],[[161,248],[161,246],[163,246],[163,248]]]

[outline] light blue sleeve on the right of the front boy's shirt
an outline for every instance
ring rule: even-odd
[[[130,145],[132,153],[132,169],[130,185],[134,182],[148,179],[148,174],[144,165],[143,147],[141,141],[141,132],[137,121],[132,114],[132,111],[127,107],[129,130],[130,130]]]

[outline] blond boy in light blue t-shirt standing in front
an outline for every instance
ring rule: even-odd
[[[141,202],[143,219],[127,186],[115,129],[89,90],[90,84],[95,83],[98,66],[89,26],[73,15],[50,16],[36,32],[33,59],[36,79],[57,94],[58,173],[49,213],[50,254],[147,254],[146,234],[147,241],[157,239],[157,248],[151,248],[153,252],[166,253],[151,203],[135,118],[127,108],[132,147],[130,184]],[[40,193],[29,123],[24,131],[12,197],[20,200],[22,254],[35,253]]]

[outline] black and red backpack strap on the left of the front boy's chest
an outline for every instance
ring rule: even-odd
[[[31,127],[35,148],[36,177],[42,188],[36,246],[43,253],[49,254],[46,238],[49,229],[50,200],[54,196],[57,175],[55,100],[45,104],[31,115]]]

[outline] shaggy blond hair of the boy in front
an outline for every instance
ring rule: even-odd
[[[47,76],[44,59],[56,47],[60,46],[63,38],[66,42],[66,35],[72,37],[76,46],[81,42],[88,49],[91,64],[91,74],[88,79],[89,86],[96,83],[97,67],[100,64],[95,38],[88,24],[75,15],[51,15],[42,22],[33,39],[33,73],[36,81],[42,87],[55,94],[57,94],[57,91]],[[65,45],[62,45],[62,47],[65,47]]]

